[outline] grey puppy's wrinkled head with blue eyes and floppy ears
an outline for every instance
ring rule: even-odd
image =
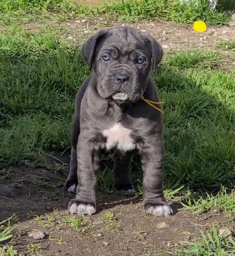
[[[138,29],[101,30],[82,46],[82,56],[94,67],[97,91],[105,99],[135,101],[148,84],[151,67],[162,60],[162,47]]]

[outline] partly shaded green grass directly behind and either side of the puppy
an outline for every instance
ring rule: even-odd
[[[17,26],[0,35],[0,165],[25,159],[43,163],[45,152],[70,147],[75,93],[88,76],[79,49],[48,29]],[[234,175],[234,70],[219,70],[215,52],[165,56],[153,77],[164,104],[165,189],[232,186]],[[103,159],[100,189],[112,187],[112,165]],[[141,193],[139,157],[133,180]]]

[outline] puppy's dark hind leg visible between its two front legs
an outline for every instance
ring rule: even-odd
[[[128,151],[125,154],[118,150],[114,151],[114,190],[125,193],[135,192],[130,179],[132,157],[132,151]]]

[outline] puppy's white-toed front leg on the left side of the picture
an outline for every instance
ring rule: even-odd
[[[91,215],[96,212],[96,177],[99,154],[91,150],[86,139],[79,136],[77,143],[77,180],[76,196],[70,201],[68,209],[72,214]]]

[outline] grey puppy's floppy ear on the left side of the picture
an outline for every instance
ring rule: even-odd
[[[106,35],[107,30],[100,30],[95,35],[88,38],[82,45],[82,56],[89,65],[90,70],[93,67],[96,46]]]

